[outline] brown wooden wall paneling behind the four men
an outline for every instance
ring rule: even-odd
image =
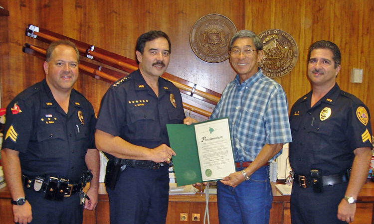
[[[137,37],[151,29],[161,29],[172,40],[173,52],[168,72],[221,93],[235,76],[229,61],[204,62],[189,45],[189,32],[194,22],[205,14],[221,13],[229,17],[238,30],[246,28],[259,33],[269,28],[280,28],[295,38],[299,60],[289,74],[276,79],[285,89],[290,106],[310,90],[306,77],[309,45],[316,40],[329,39],[342,50],[344,64],[338,76],[339,85],[374,110],[370,94],[373,92],[370,81],[374,60],[370,42],[374,32],[370,25],[374,12],[372,0],[317,0],[313,4],[293,0],[234,0],[230,4],[224,0],[214,3],[208,0],[1,2],[2,5],[7,4],[10,13],[6,22],[8,44],[2,47],[0,61],[3,107],[21,90],[44,78],[43,62],[20,50],[24,43],[46,47],[40,41],[24,36],[28,23],[132,59],[135,59]],[[354,66],[364,69],[364,83],[350,83]],[[108,87],[107,83],[81,75],[75,88],[92,102],[95,112],[98,112]]]

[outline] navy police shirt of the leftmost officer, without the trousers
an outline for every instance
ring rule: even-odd
[[[23,174],[77,182],[87,171],[88,148],[96,148],[91,103],[74,89],[66,114],[45,79],[18,94],[6,109],[3,148],[19,151]]]

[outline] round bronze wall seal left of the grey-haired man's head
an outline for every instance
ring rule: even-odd
[[[228,58],[228,45],[236,32],[236,26],[226,16],[207,14],[192,26],[189,43],[197,57],[206,62],[218,63]]]

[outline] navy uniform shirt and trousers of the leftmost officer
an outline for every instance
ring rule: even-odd
[[[15,97],[6,110],[3,148],[20,152],[25,199],[32,207],[34,223],[53,223],[54,219],[38,221],[48,213],[66,216],[66,220],[77,216],[77,223],[83,221],[83,207],[76,193],[80,191],[79,179],[87,171],[87,149],[95,148],[96,118],[92,105],[80,93],[73,90],[70,99],[73,110],[66,114],[56,107],[58,104],[43,80]],[[67,179],[74,189],[63,195],[72,195],[62,196],[62,202],[45,200],[46,185],[39,187],[34,177],[45,181],[50,177]]]

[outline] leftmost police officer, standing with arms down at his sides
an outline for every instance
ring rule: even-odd
[[[94,178],[84,208],[96,207],[96,118],[91,103],[72,89],[78,63],[72,42],[51,43],[43,65],[45,79],[18,94],[6,109],[1,156],[15,223],[81,224],[83,206],[77,193],[87,167]]]

